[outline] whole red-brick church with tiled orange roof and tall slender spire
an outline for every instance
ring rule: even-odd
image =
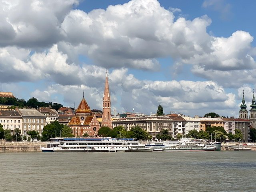
[[[112,129],[111,120],[111,100],[108,86],[108,73],[106,72],[105,89],[103,95],[103,110],[102,110],[102,125]],[[85,133],[88,136],[97,136],[100,128],[96,114],[90,110],[83,93],[82,101],[76,109],[75,116],[72,117],[68,126],[72,129],[72,134],[75,136],[83,136]]]

